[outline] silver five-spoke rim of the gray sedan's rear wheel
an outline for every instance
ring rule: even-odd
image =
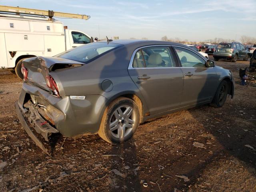
[[[112,136],[123,139],[134,128],[135,111],[131,106],[124,105],[117,108],[111,115],[109,129]]]

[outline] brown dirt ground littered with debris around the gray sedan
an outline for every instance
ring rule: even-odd
[[[236,79],[234,99],[222,108],[202,106],[144,122],[122,145],[98,135],[61,137],[52,156],[17,119],[22,81],[0,70],[0,191],[256,191],[256,87],[241,86],[238,75],[249,62],[216,65]]]

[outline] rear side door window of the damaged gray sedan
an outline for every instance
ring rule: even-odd
[[[170,49],[165,46],[146,47],[138,50],[134,56],[134,68],[175,67]]]

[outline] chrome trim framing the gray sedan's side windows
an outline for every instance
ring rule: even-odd
[[[159,47],[159,46],[165,46],[165,47],[180,47],[180,48],[184,48],[184,49],[187,49],[189,51],[192,51],[194,52],[195,54],[197,54],[198,56],[200,56],[201,58],[203,58],[205,61],[207,61],[207,59],[202,56],[201,54],[198,54],[197,52],[195,52],[194,50],[190,50],[186,47],[182,47],[182,46],[177,46],[177,45],[147,45],[147,46],[142,46],[142,47],[139,47],[139,48],[136,48],[134,50],[134,52],[132,53],[132,57],[130,59],[130,62],[129,62],[129,66],[128,66],[128,69],[170,69],[170,68],[213,68],[213,67],[136,67],[134,68],[132,66],[132,63],[133,63],[133,60],[134,60],[134,56],[136,54],[136,52],[140,49],[143,49],[143,48],[146,48],[146,47]],[[173,56],[174,57],[174,56]],[[174,59],[174,58],[173,58]],[[175,62],[175,61],[174,61]]]

